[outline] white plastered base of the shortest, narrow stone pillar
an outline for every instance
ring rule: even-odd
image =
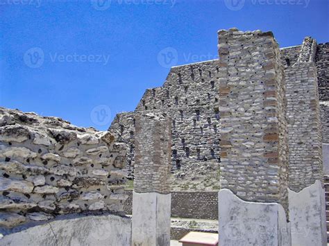
[[[133,191],[133,246],[170,245],[171,194]]]

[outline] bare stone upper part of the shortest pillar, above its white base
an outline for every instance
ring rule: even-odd
[[[162,114],[136,116],[136,193],[170,193],[171,120]]]

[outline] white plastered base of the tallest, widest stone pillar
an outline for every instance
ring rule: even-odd
[[[245,202],[232,191],[219,191],[221,245],[291,245],[285,210],[278,203]]]

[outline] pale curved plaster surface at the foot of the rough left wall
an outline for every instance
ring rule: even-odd
[[[24,218],[24,217],[23,217]],[[22,245],[131,245],[131,220],[119,216],[85,216],[55,220],[1,239],[8,246]]]

